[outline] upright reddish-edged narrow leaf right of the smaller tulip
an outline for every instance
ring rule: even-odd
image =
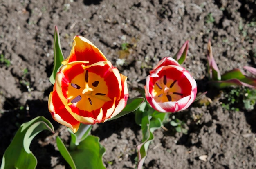
[[[213,58],[211,40],[207,44],[208,74],[211,80],[221,80],[220,70]]]

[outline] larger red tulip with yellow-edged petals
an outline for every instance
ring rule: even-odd
[[[54,120],[76,132],[80,123],[105,122],[126,106],[127,77],[89,40],[75,36],[62,64],[49,95]]]

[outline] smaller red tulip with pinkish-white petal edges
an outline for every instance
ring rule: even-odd
[[[196,97],[196,81],[171,57],[164,57],[146,78],[148,103],[159,112],[185,110]]]

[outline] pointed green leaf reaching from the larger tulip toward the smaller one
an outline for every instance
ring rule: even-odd
[[[139,108],[139,106],[144,102],[145,98],[144,97],[135,97],[132,99],[127,100],[126,107],[115,117],[112,117],[111,119],[108,119],[107,121],[118,119],[121,116],[124,116],[126,114],[129,114],[131,112],[134,112]]]

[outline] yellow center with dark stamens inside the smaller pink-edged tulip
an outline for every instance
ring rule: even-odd
[[[183,96],[181,91],[177,80],[164,75],[155,82],[152,95],[156,102],[178,101]]]

